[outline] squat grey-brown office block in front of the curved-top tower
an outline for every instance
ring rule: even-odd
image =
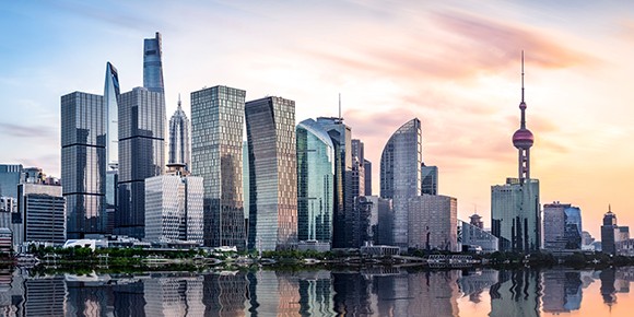
[[[458,200],[423,195],[408,202],[408,246],[416,249],[458,251]]]

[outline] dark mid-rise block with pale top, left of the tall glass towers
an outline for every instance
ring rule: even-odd
[[[17,186],[17,218],[12,226],[13,245],[26,251],[27,243],[61,246],[66,242],[62,188],[42,181]]]

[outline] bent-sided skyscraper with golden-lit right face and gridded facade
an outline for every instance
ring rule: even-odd
[[[248,248],[274,250],[297,240],[295,102],[246,103],[249,150]],[[238,148],[239,149],[239,148]]]

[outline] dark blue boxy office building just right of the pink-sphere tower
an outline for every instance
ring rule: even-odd
[[[582,249],[582,212],[570,203],[543,206],[543,247],[548,250]]]

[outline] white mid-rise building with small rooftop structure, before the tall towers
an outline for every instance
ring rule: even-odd
[[[145,239],[202,244],[202,177],[175,171],[146,178]]]

